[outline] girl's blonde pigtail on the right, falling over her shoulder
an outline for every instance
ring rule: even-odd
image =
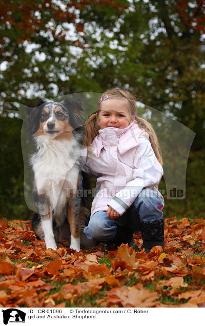
[[[151,146],[154,151],[154,154],[155,154],[157,160],[159,161],[159,163],[161,165],[163,165],[163,161],[162,161],[162,157],[161,157],[161,150],[159,147],[157,135],[156,135],[152,125],[147,120],[145,120],[143,118],[139,118],[139,117],[137,117],[137,119],[135,121],[137,122],[139,128],[144,129],[149,134],[150,142],[151,142]]]

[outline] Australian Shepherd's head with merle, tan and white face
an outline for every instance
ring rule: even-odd
[[[59,103],[39,100],[35,106],[27,108],[29,134],[68,139],[82,125],[83,111],[81,99],[66,98]]]

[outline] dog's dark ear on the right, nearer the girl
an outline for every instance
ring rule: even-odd
[[[82,118],[84,113],[83,100],[80,98],[65,98],[61,104],[69,112],[69,123],[73,129],[82,126]]]

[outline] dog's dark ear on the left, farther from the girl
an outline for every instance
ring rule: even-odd
[[[26,117],[28,121],[28,133],[32,136],[39,128],[40,114],[42,113],[45,102],[39,99],[35,105],[29,105],[26,108]]]

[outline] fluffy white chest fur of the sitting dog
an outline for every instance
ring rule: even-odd
[[[51,209],[60,213],[70,190],[77,189],[79,171],[75,162],[80,156],[80,147],[74,138],[59,141],[39,136],[37,149],[31,157],[37,192],[46,194]]]

